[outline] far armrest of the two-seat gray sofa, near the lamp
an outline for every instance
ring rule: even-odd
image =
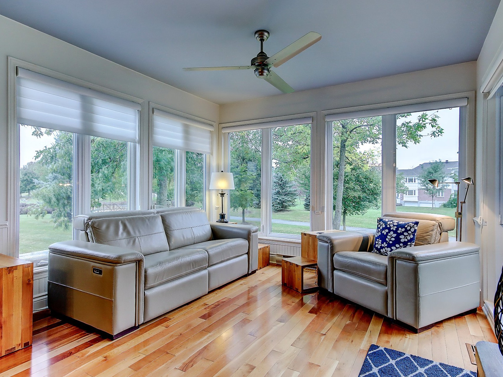
[[[248,241],[248,274],[259,268],[259,228],[253,225],[210,222],[214,239],[243,238]]]

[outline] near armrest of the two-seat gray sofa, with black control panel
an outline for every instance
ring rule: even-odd
[[[112,337],[143,322],[144,257],[85,241],[49,246],[48,306]]]

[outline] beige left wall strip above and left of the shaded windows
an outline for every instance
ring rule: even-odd
[[[6,246],[8,176],[8,56],[37,64],[210,121],[218,122],[219,106],[173,86],[79,49],[59,39],[0,16],[0,247]],[[11,198],[12,199],[12,198]]]

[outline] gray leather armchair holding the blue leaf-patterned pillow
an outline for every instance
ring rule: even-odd
[[[423,331],[479,306],[479,247],[449,241],[449,216],[392,212],[419,220],[415,244],[383,256],[368,253],[374,232],[325,233],[318,238],[318,285],[406,327]]]

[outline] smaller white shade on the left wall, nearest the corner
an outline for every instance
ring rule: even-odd
[[[156,147],[211,154],[213,125],[154,108],[153,126]]]

